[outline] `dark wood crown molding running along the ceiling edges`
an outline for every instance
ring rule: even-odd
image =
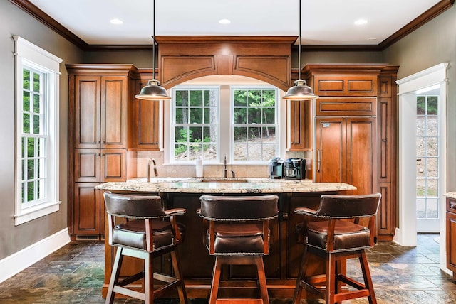
[[[53,31],[56,31],[59,35],[63,36],[66,38],[68,41],[71,43],[75,44],[79,48],[86,50],[86,51],[103,51],[103,50],[151,50],[152,45],[89,45],[86,43],[84,40],[76,36],[73,32],[69,31],[68,28],[65,28],[62,26],[60,23],[58,23],[55,19],[51,18],[47,13],[41,11],[37,6],[34,4],[31,4],[30,1],[28,0],[9,0],[13,4],[16,4],[16,6],[19,6],[22,10],[26,11],[29,13],[31,16],[36,18],[38,21],[41,21],[41,23],[45,24],[49,28],[51,28]],[[415,18],[413,21],[410,21],[406,26],[403,28],[400,28],[399,31],[393,33],[390,37],[386,38],[383,40],[381,43],[378,45],[302,45],[302,50],[303,52],[306,51],[382,51],[385,50],[385,48],[388,48],[390,45],[393,45],[396,43],[398,40],[401,38],[407,36],[409,33],[412,33],[415,31],[417,28],[420,26],[423,26],[427,21],[432,20],[433,18],[437,17],[440,15],[440,13],[446,11],[447,9],[450,9],[452,5],[455,3],[455,0],[441,0],[435,6],[432,6],[430,9],[422,13],[420,16]],[[167,36],[171,37],[171,36]],[[189,40],[192,40],[194,43],[207,43],[206,39],[207,37],[214,38],[214,39],[219,39],[219,36],[206,36],[204,39],[198,39],[199,36],[187,36],[187,38],[184,38],[185,36],[176,36],[178,38],[187,40],[187,43]],[[224,39],[227,36],[224,36]],[[233,36],[234,40],[237,42],[242,41],[244,38],[243,36]],[[261,39],[263,39],[265,36],[261,36]],[[271,36],[274,38],[277,38],[277,36]],[[158,38],[158,37],[157,37]],[[249,36],[249,38],[252,39],[252,36]],[[284,37],[285,39],[289,38],[287,36]],[[173,38],[168,38],[168,39],[173,39]],[[166,40],[166,39],[165,39]],[[166,43],[167,41],[162,41],[162,43]],[[174,43],[176,42],[175,40],[173,41]],[[232,41],[233,42],[233,41]],[[268,43],[268,41],[264,41],[265,43]],[[269,41],[271,43],[271,41]]]

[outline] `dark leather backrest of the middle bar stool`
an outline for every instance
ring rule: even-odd
[[[259,221],[277,217],[277,195],[202,195],[199,216],[209,221]]]

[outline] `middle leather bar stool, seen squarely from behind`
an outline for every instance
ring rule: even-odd
[[[269,303],[263,256],[269,254],[269,221],[279,213],[278,197],[202,195],[200,200],[197,212],[207,224],[204,243],[209,254],[216,256],[209,304],[217,303],[222,264],[256,265],[261,300]],[[239,299],[219,300],[227,303]]]

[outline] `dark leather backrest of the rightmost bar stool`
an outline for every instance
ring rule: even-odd
[[[321,195],[316,217],[353,219],[377,214],[381,194]]]

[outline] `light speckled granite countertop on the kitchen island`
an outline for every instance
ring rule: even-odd
[[[356,190],[346,183],[312,183],[311,180],[269,178],[135,178],[103,183],[95,188],[126,192],[169,193],[304,193]]]

